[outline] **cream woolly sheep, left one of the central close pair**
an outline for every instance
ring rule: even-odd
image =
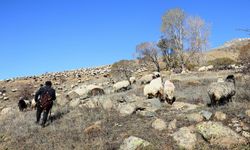
[[[163,85],[161,78],[156,78],[150,82],[150,84],[145,85],[144,95],[147,98],[160,97],[163,95]]]

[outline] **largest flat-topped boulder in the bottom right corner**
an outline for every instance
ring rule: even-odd
[[[246,144],[246,139],[239,136],[220,122],[202,122],[196,125],[199,132],[211,144],[230,148],[236,144]]]

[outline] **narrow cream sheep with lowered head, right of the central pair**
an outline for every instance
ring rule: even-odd
[[[175,102],[175,96],[174,96],[175,86],[172,82],[169,80],[165,81],[164,84],[164,96],[163,100],[167,101],[169,104],[173,104]]]

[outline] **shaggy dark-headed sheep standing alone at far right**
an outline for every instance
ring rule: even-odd
[[[211,100],[211,106],[222,105],[231,101],[236,94],[234,75],[227,76],[224,82],[211,83],[207,91]]]

